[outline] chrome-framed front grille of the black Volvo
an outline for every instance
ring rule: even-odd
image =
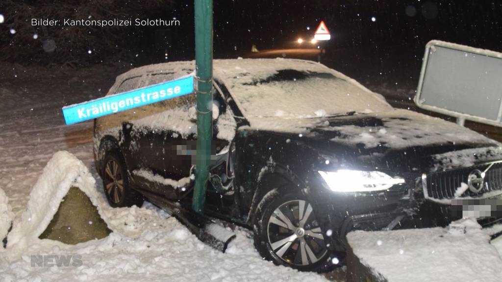
[[[481,198],[484,194],[502,193],[502,162],[475,165],[449,171],[430,173],[422,177],[422,186],[426,198],[431,200],[449,200],[455,198],[455,192],[462,183],[467,184],[469,174],[474,170],[485,172],[483,188],[478,192],[467,189],[459,198]]]

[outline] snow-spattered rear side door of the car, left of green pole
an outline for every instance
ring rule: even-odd
[[[174,75],[171,72],[149,74],[147,85],[172,80]],[[170,186],[176,186],[180,178],[166,168],[166,156],[171,157],[173,139],[190,135],[185,134],[190,131],[184,130],[185,127],[196,128],[195,123],[183,117],[188,101],[195,100],[191,95],[194,96],[189,94],[137,108],[137,118],[124,124],[124,139],[126,143],[131,140],[129,147],[136,164],[131,168],[132,175],[141,189],[172,198]]]

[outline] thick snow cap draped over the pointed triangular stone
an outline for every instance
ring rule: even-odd
[[[40,241],[38,237],[51,222],[70,187],[82,190],[99,212],[101,205],[95,180],[87,167],[66,151],[55,153],[33,187],[26,210],[21,218],[14,221],[7,242],[10,258],[16,258],[30,245]]]

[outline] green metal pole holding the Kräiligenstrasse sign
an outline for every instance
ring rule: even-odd
[[[195,1],[195,93],[197,95],[197,161],[192,208],[204,212],[212,138],[213,0]]]

